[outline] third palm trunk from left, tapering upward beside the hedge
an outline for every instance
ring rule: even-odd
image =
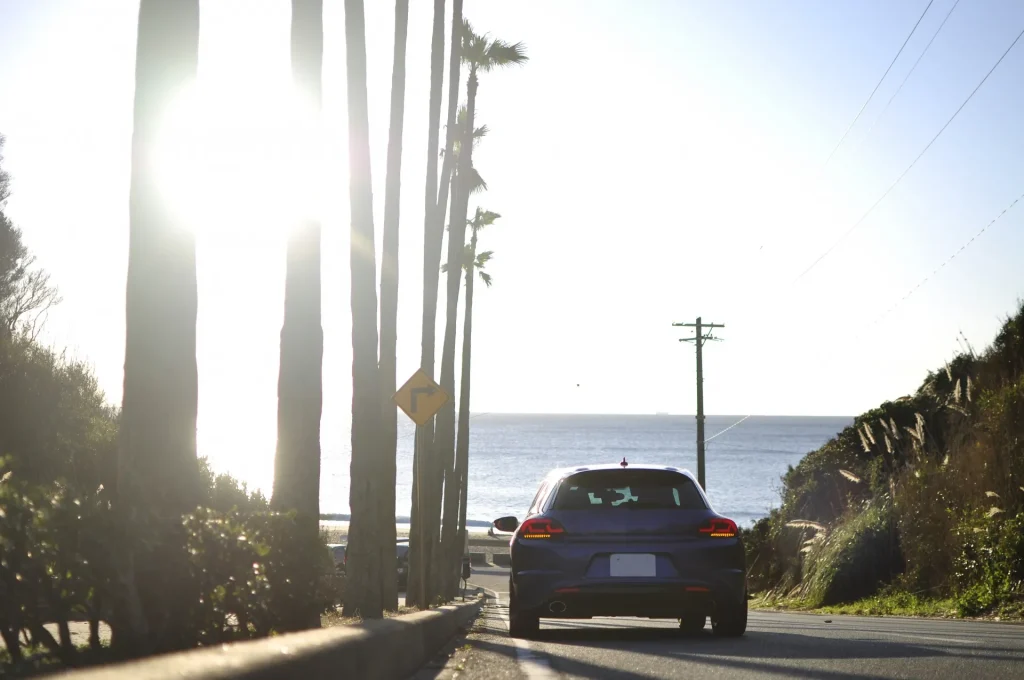
[[[381,401],[377,367],[377,266],[374,252],[370,115],[367,103],[367,36],[362,0],[345,0],[348,81],[348,187],[351,208],[349,257],[352,305],[352,462],[345,615],[383,615],[381,539],[374,474],[380,453]],[[393,544],[390,550],[394,550]],[[394,578],[392,572],[391,578]]]

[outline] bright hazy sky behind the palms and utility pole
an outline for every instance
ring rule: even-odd
[[[692,414],[693,348],[672,324],[696,316],[725,325],[705,352],[711,414],[855,415],[912,392],[965,338],[987,345],[1024,293],[1024,206],[901,299],[1024,192],[1024,40],[800,275],[1024,30],[1016,0],[959,3],[886,107],[954,1],[933,2],[826,164],[926,0],[466,0],[478,32],[529,55],[480,78],[476,117],[489,133],[474,164],[488,190],[471,210],[502,217],[480,237],[495,284],[476,292],[472,410]],[[420,353],[432,12],[411,4],[401,378]],[[344,5],[325,1],[312,198],[282,134],[294,113],[289,2],[201,6],[197,109],[183,119],[201,143],[176,155],[172,144],[166,169],[198,236],[200,453],[252,452],[263,469],[296,196],[325,225],[325,447],[348,438]],[[63,297],[45,340],[91,363],[116,403],[137,8],[0,0],[6,210]],[[379,243],[393,5],[368,2],[367,30]]]

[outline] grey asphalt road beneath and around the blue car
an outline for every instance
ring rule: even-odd
[[[1013,624],[752,612],[723,640],[674,621],[542,619],[521,641],[507,635],[508,570],[475,567],[470,584],[497,597],[450,664],[459,678],[1024,678]]]

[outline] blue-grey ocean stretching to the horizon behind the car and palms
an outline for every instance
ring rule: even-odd
[[[708,496],[715,510],[742,525],[778,507],[780,477],[787,466],[853,422],[853,418],[753,416],[736,424],[740,418],[708,416],[705,437]],[[401,522],[410,514],[415,432],[408,419],[398,423],[395,514]],[[625,457],[630,463],[674,465],[696,475],[693,416],[478,414],[470,424],[466,511],[470,525],[487,525],[503,515],[521,517],[541,479],[556,467],[617,463]],[[347,518],[345,453],[341,457],[325,452],[321,512]]]

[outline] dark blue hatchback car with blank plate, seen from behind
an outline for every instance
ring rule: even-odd
[[[677,619],[697,633],[746,630],[746,565],[736,523],[715,512],[686,470],[595,465],[553,470],[509,543],[509,634],[541,617]]]

